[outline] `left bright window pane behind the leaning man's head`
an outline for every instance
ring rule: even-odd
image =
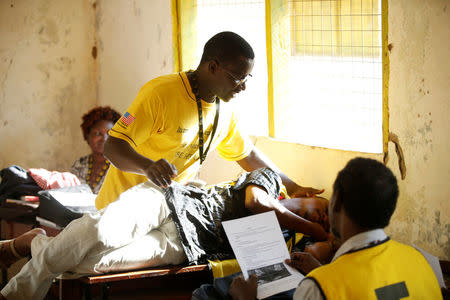
[[[265,136],[268,132],[267,116],[267,59],[264,0],[253,1],[197,1],[197,61],[203,46],[214,34],[233,31],[252,45],[255,66],[246,90],[236,95],[242,125],[251,135]],[[249,113],[251,112],[251,113]]]

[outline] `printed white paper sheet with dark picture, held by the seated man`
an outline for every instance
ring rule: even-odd
[[[258,276],[258,299],[298,286],[304,276],[284,262],[290,255],[273,211],[222,225],[244,278]]]

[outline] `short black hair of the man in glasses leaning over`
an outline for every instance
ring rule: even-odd
[[[200,63],[213,59],[220,62],[231,62],[241,56],[248,59],[255,58],[250,44],[240,35],[231,31],[224,31],[206,42]]]

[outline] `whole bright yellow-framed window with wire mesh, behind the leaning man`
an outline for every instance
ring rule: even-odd
[[[205,42],[224,30],[254,48],[254,77],[235,101],[250,134],[383,151],[382,0],[183,0],[178,5],[184,5],[181,15],[189,9],[195,16],[179,27],[189,31],[185,40],[195,41],[195,51],[182,47],[183,57],[195,52],[189,55],[198,64]]]

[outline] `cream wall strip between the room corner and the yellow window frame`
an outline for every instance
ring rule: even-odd
[[[173,72],[168,0],[98,1],[101,105],[123,113],[147,81]]]

